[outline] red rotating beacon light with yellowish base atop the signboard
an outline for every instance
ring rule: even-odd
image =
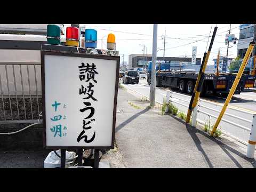
[[[67,27],[66,45],[76,47],[79,46],[79,29],[77,27]]]

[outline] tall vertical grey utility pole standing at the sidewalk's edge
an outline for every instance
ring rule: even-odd
[[[152,70],[150,84],[150,106],[155,106],[156,99],[156,49],[157,49],[157,24],[153,29],[153,50],[152,50]]]

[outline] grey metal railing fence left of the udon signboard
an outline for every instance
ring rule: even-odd
[[[41,63],[0,63],[0,124],[42,122]]]

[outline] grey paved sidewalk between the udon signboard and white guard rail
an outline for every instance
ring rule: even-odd
[[[146,108],[149,102],[129,92],[118,90],[116,117],[115,138],[125,167],[256,167],[245,147],[159,115],[160,109]]]

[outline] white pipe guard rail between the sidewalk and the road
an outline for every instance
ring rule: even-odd
[[[175,97],[175,96],[173,95],[173,93],[175,93],[175,94],[180,94],[180,93],[176,93],[176,92],[172,92],[172,91],[167,91],[167,92],[166,92],[166,103],[173,102],[173,103],[177,103],[178,105],[181,105],[181,106],[184,106],[184,107],[187,107],[187,108],[189,107],[189,102],[190,102],[190,101],[185,100],[185,99],[181,99],[181,98],[178,98],[178,97]],[[188,95],[185,95],[185,94],[181,94],[181,95],[190,98],[190,96],[188,96]],[[174,99],[178,99],[178,100],[183,101],[183,102],[187,102],[188,105],[185,105],[185,104],[183,104],[183,103],[180,103],[179,101],[174,101],[174,100],[172,100],[172,99],[170,99],[170,98],[174,98]],[[192,116],[191,116],[191,118],[192,118],[192,119],[191,119],[191,120],[192,120],[191,125],[194,126],[194,127],[196,126],[196,122],[199,122],[199,123],[201,123],[201,124],[205,124],[203,121],[201,121],[200,119],[197,118],[197,113],[202,113],[202,114],[205,114],[205,115],[207,115],[207,116],[214,117],[214,118],[216,118],[216,119],[218,118],[218,116],[215,116],[215,115],[213,115],[213,114],[207,113],[206,111],[203,111],[203,110],[201,110],[201,109],[199,109],[199,108],[210,109],[210,110],[212,110],[212,111],[215,111],[215,112],[220,113],[220,110],[212,109],[212,108],[210,108],[210,107],[201,105],[201,104],[200,104],[201,100],[202,100],[202,99],[199,99],[199,103],[198,103],[198,105],[193,109],[193,113],[192,113]],[[207,100],[203,100],[203,101],[204,101],[204,102],[212,103],[211,101],[207,101]],[[216,103],[214,103],[214,104],[216,105]],[[222,106],[222,105],[220,105],[220,106]],[[236,138],[236,137],[233,137],[233,136],[230,135],[229,133],[226,133],[226,132],[223,132],[223,131],[222,131],[223,133],[229,135],[230,138],[236,139],[236,140],[238,140],[238,141],[244,143],[245,145],[247,145],[247,154],[246,154],[246,156],[249,157],[249,158],[253,158],[253,157],[254,157],[254,151],[255,151],[255,145],[256,145],[256,114],[250,113],[249,111],[242,111],[242,110],[235,109],[235,108],[229,108],[229,109],[236,110],[236,111],[240,111],[240,112],[242,112],[242,113],[246,113],[246,114],[252,115],[252,121],[250,121],[250,120],[245,119],[245,118],[243,118],[243,117],[238,117],[238,116],[236,116],[236,115],[232,115],[232,114],[229,114],[229,113],[225,113],[225,115],[227,115],[227,116],[234,117],[234,118],[240,119],[241,121],[251,123],[251,127],[250,127],[250,128],[245,127],[245,126],[243,126],[243,125],[239,125],[239,124],[234,123],[234,122],[231,122],[231,121],[228,121],[228,120],[225,119],[225,118],[222,118],[221,121],[226,122],[226,123],[229,123],[229,124],[234,125],[234,126],[237,126],[237,127],[241,128],[241,129],[243,129],[243,130],[246,130],[246,131],[249,131],[249,132],[250,132],[250,139],[249,139],[249,142],[246,143],[246,142],[244,142],[244,141],[242,141],[242,140],[240,140],[240,139],[238,139],[238,138]],[[166,111],[166,112],[167,112],[167,111]]]

